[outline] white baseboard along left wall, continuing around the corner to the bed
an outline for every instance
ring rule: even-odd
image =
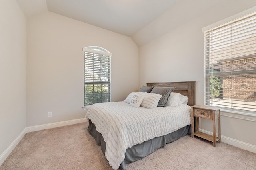
[[[44,129],[50,129],[54,127],[61,127],[61,126],[67,126],[67,125],[73,125],[77,123],[83,123],[86,122],[86,118],[81,118],[81,119],[74,119],[74,120],[68,120],[68,121],[61,121],[61,122],[56,122],[56,123],[48,123],[44,125],[37,125],[37,126],[30,126],[30,127],[25,127],[24,130],[16,137],[16,139],[11,143],[11,145],[4,150],[4,152],[0,155],[0,166],[6,160],[6,158],[9,156],[9,154],[12,152],[12,150],[18,145],[20,140],[24,137],[24,135],[28,132],[33,132],[33,131],[40,131]]]

